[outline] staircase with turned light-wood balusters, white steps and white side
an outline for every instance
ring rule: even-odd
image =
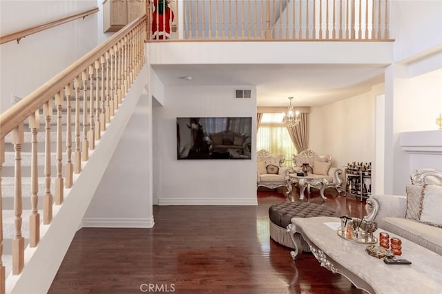
[[[144,91],[145,28],[133,21],[0,115],[0,294],[48,291]]]

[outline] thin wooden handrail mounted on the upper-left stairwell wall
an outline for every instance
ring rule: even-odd
[[[3,34],[0,36],[0,44],[8,43],[12,40],[17,40],[17,43],[19,43],[21,38],[24,38],[25,36],[29,36],[30,34],[35,34],[37,32],[41,32],[42,30],[48,30],[48,29],[53,28],[57,25],[67,23],[67,22],[73,21],[75,19],[79,19],[80,17],[83,17],[83,19],[84,19],[88,15],[93,14],[98,11],[99,11],[99,9],[97,7],[94,7],[89,10],[85,10],[83,12],[71,14],[71,15],[69,15],[67,17],[63,17],[61,19],[56,19],[54,21],[48,21],[46,23],[34,25],[32,27],[29,27],[29,28],[26,28],[23,30],[17,30],[15,32],[10,32],[8,34]]]

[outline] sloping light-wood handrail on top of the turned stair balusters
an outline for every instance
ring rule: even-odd
[[[70,81],[73,81],[73,79],[84,71],[85,68],[99,59],[103,52],[111,49],[113,45],[115,45],[115,41],[133,30],[133,28],[144,21],[145,18],[146,16],[143,15],[142,17],[135,19],[122,28],[122,30],[119,30],[117,33],[113,34],[113,36],[106,39],[101,45],[88,52],[88,54],[75,61],[72,65],[66,67],[65,70],[3,112],[3,114],[0,115],[0,138],[4,138],[6,134],[17,127],[19,123],[28,118],[39,109],[41,105],[52,98],[57,91],[63,89],[67,83],[70,83]]]

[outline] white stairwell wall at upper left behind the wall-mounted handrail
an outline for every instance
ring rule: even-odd
[[[97,0],[0,1],[0,34],[97,6]],[[97,13],[0,45],[0,112],[97,45]]]

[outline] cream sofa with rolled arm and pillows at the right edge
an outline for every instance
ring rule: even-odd
[[[410,178],[405,196],[370,196],[365,220],[442,255],[442,172],[416,169]]]

